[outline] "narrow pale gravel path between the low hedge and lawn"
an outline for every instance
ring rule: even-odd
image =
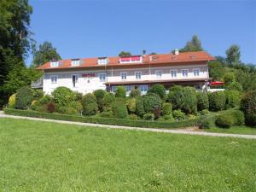
[[[227,134],[227,133],[215,133],[215,132],[213,133],[213,132],[203,132],[203,131],[186,131],[186,130],[183,131],[180,129],[179,130],[165,130],[165,129],[152,129],[152,128],[138,128],[138,127],[119,126],[119,125],[101,125],[101,124],[79,123],[79,122],[55,120],[55,119],[40,119],[40,118],[31,118],[31,117],[23,117],[23,116],[4,114],[3,111],[0,111],[0,118],[29,119],[29,120],[55,122],[55,123],[70,124],[70,125],[104,127],[104,128],[108,128],[108,129],[165,132],[165,133],[199,135],[199,136],[209,136],[209,137],[239,137],[239,138],[247,138],[247,139],[256,139],[256,136],[253,136],[253,135]]]

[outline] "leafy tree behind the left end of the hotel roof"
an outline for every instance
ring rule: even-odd
[[[39,45],[39,49],[34,51],[32,65],[39,67],[50,60],[61,60],[61,56],[51,43],[45,41]]]

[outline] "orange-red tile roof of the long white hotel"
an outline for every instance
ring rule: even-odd
[[[196,51],[196,52],[185,52],[174,54],[162,54],[162,55],[144,55],[142,63],[119,63],[119,56],[108,57],[109,67],[118,66],[134,66],[142,64],[167,64],[167,63],[187,63],[193,61],[212,61],[215,60],[212,55],[209,55],[206,51]],[[81,64],[79,67],[102,67],[104,65],[98,65],[98,57],[95,58],[84,58],[80,59]],[[38,67],[38,69],[59,69],[59,68],[75,68],[71,65],[71,59],[61,60],[61,65],[59,67],[50,67],[50,62],[45,63],[43,66]]]

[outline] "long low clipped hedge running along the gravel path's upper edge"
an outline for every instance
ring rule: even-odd
[[[163,122],[163,121],[147,121],[147,120],[134,120],[134,119],[114,119],[114,118],[100,118],[100,117],[82,117],[79,115],[67,115],[59,113],[40,113],[32,110],[19,110],[12,108],[4,108],[4,113],[34,117],[34,118],[44,118],[44,119],[57,119],[57,120],[68,120],[75,122],[84,122],[92,124],[103,124],[103,125],[122,125],[122,126],[132,126],[132,127],[148,127],[148,128],[180,128],[195,126],[198,124],[199,119],[189,119],[177,122]]]

